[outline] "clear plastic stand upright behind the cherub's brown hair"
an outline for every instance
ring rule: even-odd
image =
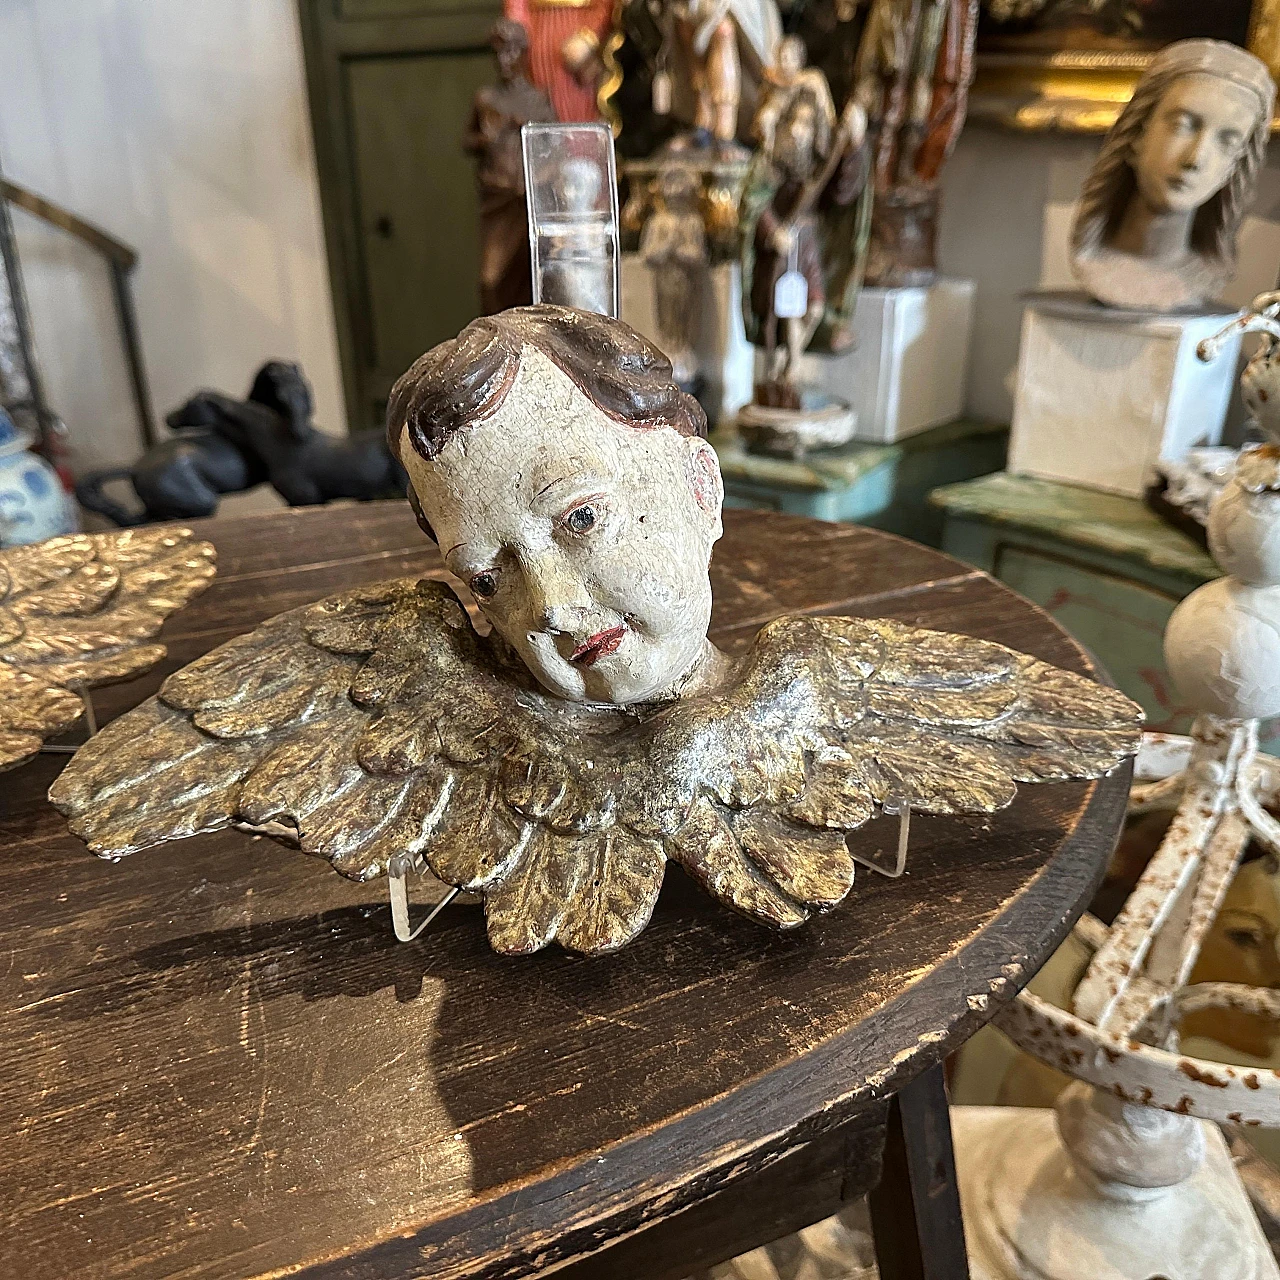
[[[607,124],[520,131],[534,302],[618,317],[618,178]]]

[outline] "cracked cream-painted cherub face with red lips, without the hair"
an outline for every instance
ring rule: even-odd
[[[611,419],[541,352],[431,461],[401,449],[449,570],[538,681],[663,696],[707,650],[723,488],[705,440]]]

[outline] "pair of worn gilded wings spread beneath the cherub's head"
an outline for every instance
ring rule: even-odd
[[[617,950],[668,859],[788,928],[835,906],[884,805],[993,813],[1097,777],[1139,709],[1001,645],[852,618],[769,623],[714,694],[641,714],[541,692],[438,582],[294,609],[93,737],[54,785],[104,856],[283,822],[367,879],[421,854],[485,899],[498,951]]]

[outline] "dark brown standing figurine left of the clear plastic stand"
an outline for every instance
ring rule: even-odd
[[[529,214],[520,127],[554,120],[547,95],[529,81],[529,35],[499,18],[489,35],[498,83],[481,88],[471,106],[462,147],[476,159],[480,193],[480,306],[486,315],[532,301]]]

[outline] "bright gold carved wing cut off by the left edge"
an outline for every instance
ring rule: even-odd
[[[83,710],[77,689],[155,666],[170,613],[212,581],[189,529],[70,534],[0,550],[0,771],[31,759]]]

